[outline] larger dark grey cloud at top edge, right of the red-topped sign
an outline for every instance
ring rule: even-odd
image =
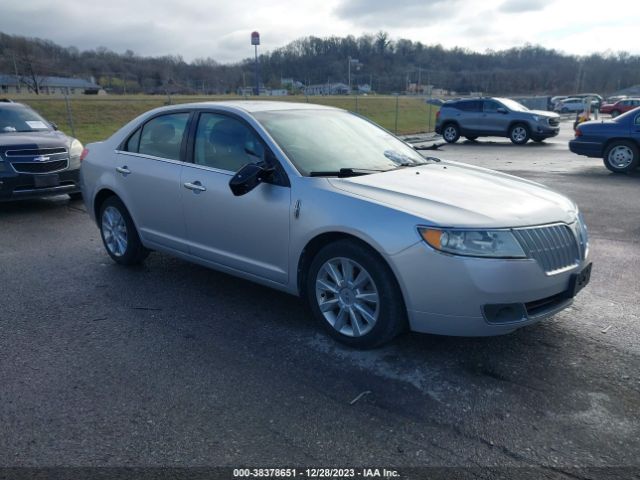
[[[459,0],[342,0],[334,13],[343,20],[377,30],[450,21]]]

